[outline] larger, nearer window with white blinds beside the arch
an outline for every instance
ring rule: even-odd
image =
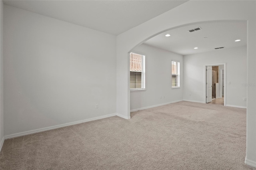
[[[130,53],[130,89],[145,89],[145,55]]]

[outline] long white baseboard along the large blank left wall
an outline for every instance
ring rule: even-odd
[[[95,120],[98,120],[98,119],[104,119],[104,118],[112,117],[112,116],[116,116],[116,113],[113,113],[113,114],[110,114],[110,115],[104,115],[104,116],[100,116],[100,117],[94,117],[94,118],[91,118],[91,119],[85,119],[85,120],[82,120],[82,121],[65,123],[65,124],[62,124],[62,125],[56,125],[56,126],[52,126],[52,127],[39,128],[39,129],[35,129],[35,130],[28,130],[26,132],[9,134],[9,135],[4,136],[4,139],[15,138],[15,137],[18,137],[18,136],[24,136],[24,135],[27,135],[27,134],[43,132],[43,131],[46,131],[46,130],[52,130],[52,129],[61,128],[61,127],[67,127],[67,126],[76,125],[76,124],[80,124],[80,123],[85,123],[85,122],[89,122],[89,121],[95,121]]]

